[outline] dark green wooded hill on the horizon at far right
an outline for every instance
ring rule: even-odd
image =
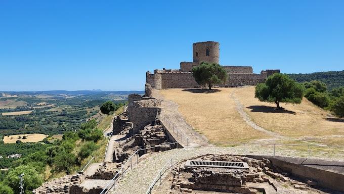
[[[291,78],[297,82],[319,80],[327,85],[327,89],[331,90],[335,87],[344,86],[344,71],[326,71],[316,73],[298,73],[288,74]]]

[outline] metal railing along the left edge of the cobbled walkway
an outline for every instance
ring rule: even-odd
[[[158,146],[154,146],[151,148],[145,148],[145,149],[139,149],[137,150],[134,154],[132,154],[127,160],[126,162],[122,165],[122,167],[118,170],[117,174],[106,184],[106,186],[104,187],[104,189],[100,192],[100,194],[105,194],[107,193],[109,190],[111,190],[111,188],[113,188],[113,190],[115,190],[115,184],[116,181],[122,177],[122,179],[124,178],[124,173],[130,168],[133,168],[133,158],[136,156],[136,164],[139,164],[139,154],[142,151],[146,151],[146,150],[150,150],[152,152],[152,155],[154,156],[154,148],[165,148],[165,151],[167,150],[166,146],[169,146],[169,149],[175,149],[173,147],[171,147],[171,145],[176,144],[176,149],[178,149],[178,142],[173,142],[173,143],[166,143],[166,144],[161,144]],[[130,164],[129,164],[130,163]]]

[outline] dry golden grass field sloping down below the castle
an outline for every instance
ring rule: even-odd
[[[254,98],[254,87],[219,88],[215,92],[199,89],[159,90],[166,100],[179,105],[179,112],[210,142],[226,143],[273,138],[253,129],[237,111],[235,99],[243,105],[249,119],[267,131],[294,140],[335,144],[344,140],[344,122],[334,122],[326,111],[303,100],[300,105],[281,103],[284,111],[276,111],[275,104]],[[202,91],[202,92],[201,92]],[[275,137],[276,138],[276,137]]]

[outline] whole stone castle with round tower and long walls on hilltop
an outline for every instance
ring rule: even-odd
[[[151,84],[152,88],[195,88],[198,83],[192,76],[192,68],[201,62],[217,63],[220,58],[219,42],[206,41],[192,44],[192,62],[181,62],[180,69],[155,69],[154,73],[146,72],[146,83]],[[236,87],[241,85],[255,85],[264,82],[265,79],[280,70],[265,70],[260,74],[253,73],[250,66],[222,66],[228,73],[228,80],[221,87]]]

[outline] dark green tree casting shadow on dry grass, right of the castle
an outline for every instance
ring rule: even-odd
[[[282,109],[279,104],[302,102],[305,86],[289,78],[288,75],[275,73],[268,77],[265,83],[255,87],[255,98],[259,101],[275,103],[277,109]]]

